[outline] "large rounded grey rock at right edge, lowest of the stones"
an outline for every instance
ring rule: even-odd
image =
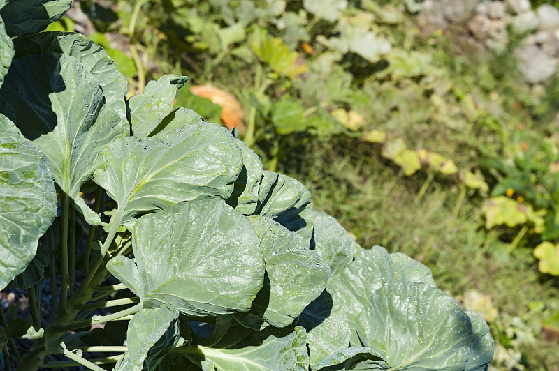
[[[518,68],[530,84],[545,82],[557,71],[558,61],[535,45],[523,47],[515,54]]]

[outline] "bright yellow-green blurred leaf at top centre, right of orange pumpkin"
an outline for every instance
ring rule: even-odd
[[[281,38],[255,40],[250,46],[261,61],[268,63],[279,74],[295,77],[309,70],[307,63],[303,59],[298,59],[296,52],[289,51],[289,47]]]

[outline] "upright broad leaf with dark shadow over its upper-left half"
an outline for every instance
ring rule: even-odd
[[[32,54],[15,59],[0,89],[0,110],[45,154],[48,168],[90,225],[99,215],[79,197],[103,160],[100,151],[127,128],[104,104],[96,78],[72,56]]]

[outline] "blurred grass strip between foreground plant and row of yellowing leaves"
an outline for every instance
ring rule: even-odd
[[[559,344],[538,334],[551,310],[530,311],[530,303],[559,305],[559,279],[538,273],[531,248],[507,253],[509,244],[484,229],[475,197],[461,198],[460,186],[444,180],[430,183],[418,197],[426,174],[403,176],[373,144],[342,139],[306,150],[304,156],[292,153],[280,171],[305,184],[315,209],[335,216],[363,247],[382,245],[423,262],[458,301],[472,289],[488,294],[499,310],[491,324],[495,338],[499,331],[517,331],[521,338],[511,324],[514,317],[534,338],[510,346],[521,354],[524,370],[558,370]]]

